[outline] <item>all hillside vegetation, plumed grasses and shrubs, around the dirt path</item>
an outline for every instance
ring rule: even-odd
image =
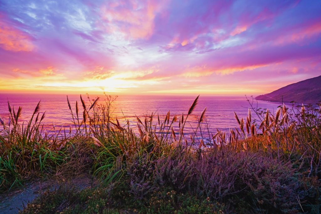
[[[271,114],[248,100],[247,118],[235,113],[237,128],[212,135],[205,108],[194,133],[184,134],[198,98],[186,114],[137,117],[135,128],[112,117],[116,98],[80,97],[75,108],[67,98],[74,124],[51,135],[40,103],[26,123],[22,108],[8,102],[9,123],[0,119],[1,191],[34,177],[89,172],[98,187],[62,186],[21,212],[320,213],[320,104],[283,104]]]

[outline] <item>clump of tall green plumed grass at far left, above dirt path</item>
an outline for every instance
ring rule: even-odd
[[[35,174],[50,172],[64,161],[66,138],[49,136],[41,124],[45,113],[39,114],[40,102],[35,107],[30,120],[20,122],[22,107],[17,113],[8,102],[9,122],[3,125],[0,134],[0,187],[21,183],[22,179]]]

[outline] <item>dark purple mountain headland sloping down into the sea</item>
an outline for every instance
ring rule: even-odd
[[[258,100],[289,103],[316,104],[321,101],[321,76],[292,83],[271,93],[259,95]]]

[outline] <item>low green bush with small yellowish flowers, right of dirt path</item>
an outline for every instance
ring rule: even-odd
[[[223,213],[223,205],[209,198],[198,199],[189,193],[165,189],[135,200],[126,188],[127,185],[110,184],[107,188],[78,191],[61,186],[52,192],[46,191],[20,213]]]

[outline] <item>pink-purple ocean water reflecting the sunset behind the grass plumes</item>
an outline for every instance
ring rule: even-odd
[[[94,99],[100,97],[100,102],[104,102],[104,94],[93,95],[90,98]],[[73,111],[75,112],[75,102],[78,100],[79,108],[82,109],[79,95],[68,95]],[[83,98],[88,101],[87,96]],[[113,103],[113,118],[119,120],[121,124],[125,124],[126,120],[136,127],[136,116],[141,120],[146,115],[158,113],[160,119],[165,118],[167,112],[170,110],[171,118],[174,115],[177,117],[187,115],[188,108],[194,101],[195,96],[171,96],[171,95],[120,95]],[[0,116],[7,123],[8,122],[8,104],[10,102],[16,111],[19,106],[22,106],[22,115],[20,122],[29,120],[37,103],[41,100],[40,113],[46,112],[44,125],[47,130],[52,129],[53,125],[56,127],[68,128],[72,125],[70,110],[67,104],[66,95],[53,94],[0,94]],[[88,102],[89,105],[89,102]],[[268,108],[271,112],[275,112],[281,103],[272,103],[266,101],[254,100],[253,105],[261,108]],[[205,118],[211,132],[216,133],[216,129],[222,131],[229,131],[229,129],[238,127],[234,117],[234,111],[239,118],[247,116],[247,109],[250,104],[245,96],[230,97],[230,96],[200,96],[199,102],[189,117],[188,123],[185,126],[185,133],[192,133],[193,128],[196,127],[197,117],[206,109]],[[252,111],[252,117],[257,118]],[[156,120],[155,120],[156,122]],[[178,131],[178,122],[174,125]],[[2,127],[0,127],[1,130]]]

